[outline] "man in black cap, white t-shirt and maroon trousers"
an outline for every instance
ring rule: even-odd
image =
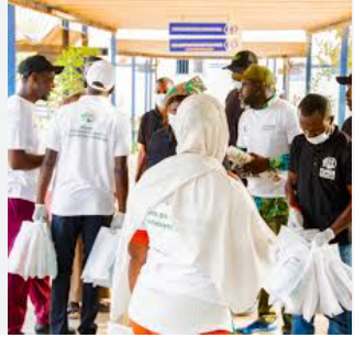
[[[22,222],[31,221],[34,211],[38,168],[38,136],[34,127],[35,102],[46,100],[54,87],[54,76],[63,67],[53,66],[44,56],[35,55],[19,66],[21,88],[8,100],[8,255],[20,233]],[[35,333],[48,334],[51,288],[48,280],[24,281],[8,274],[8,334],[20,335],[27,298],[34,304]]]

